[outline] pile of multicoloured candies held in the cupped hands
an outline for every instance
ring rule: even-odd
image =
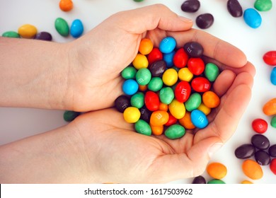
[[[207,127],[207,115],[219,105],[211,91],[219,68],[203,62],[203,48],[188,42],[176,49],[176,40],[165,37],[159,48],[144,38],[132,64],[121,73],[125,82],[115,107],[140,134],[178,139],[186,129]]]

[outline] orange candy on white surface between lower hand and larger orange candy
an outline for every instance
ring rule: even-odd
[[[227,168],[222,163],[214,162],[207,165],[207,173],[214,179],[222,179],[227,173]]]

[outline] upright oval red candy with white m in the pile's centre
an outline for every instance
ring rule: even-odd
[[[176,86],[174,94],[176,96],[176,100],[180,103],[185,103],[190,97],[190,92],[190,84],[186,81],[180,81]]]

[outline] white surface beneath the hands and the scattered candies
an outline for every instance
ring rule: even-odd
[[[180,6],[183,1],[79,0],[74,1],[72,11],[65,13],[59,9],[59,0],[0,0],[0,34],[8,30],[16,31],[19,26],[30,23],[35,25],[38,31],[50,32],[55,42],[69,42],[73,40],[72,37],[64,38],[58,35],[54,29],[54,20],[57,17],[66,19],[68,23],[79,18],[83,21],[85,32],[87,32],[112,13],[156,3],[165,4],[178,15],[194,20],[201,13],[212,13],[214,24],[206,31],[239,47],[246,53],[248,60],[256,68],[253,95],[246,113],[243,115],[234,136],[215,153],[212,161],[226,165],[228,173],[223,179],[226,183],[240,183],[242,180],[251,180],[243,174],[241,170],[242,161],[234,156],[234,150],[241,144],[250,142],[251,136],[254,134],[251,122],[255,118],[263,118],[270,123],[271,117],[263,114],[262,107],[270,98],[276,97],[276,87],[270,83],[272,66],[266,65],[262,57],[265,52],[276,50],[276,1],[272,0],[272,10],[260,13],[263,23],[257,29],[246,25],[243,18],[233,18],[226,10],[226,0],[200,1],[201,6],[197,13],[181,11]],[[240,1],[243,10],[252,8],[254,2],[253,0]],[[197,28],[197,26],[194,25],[194,28]],[[63,126],[66,122],[64,122],[62,116],[63,111],[0,107],[0,145]],[[276,144],[275,128],[269,126],[265,136],[270,139],[270,144]],[[262,168],[263,178],[251,181],[254,183],[276,183],[276,175],[271,173],[268,165]],[[204,176],[207,180],[210,179],[206,173]],[[192,178],[175,181],[175,183],[190,182],[192,182]]]

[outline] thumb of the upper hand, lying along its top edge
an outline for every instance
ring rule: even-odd
[[[130,11],[121,11],[115,16],[115,23],[129,33],[141,34],[146,30],[159,28],[168,31],[183,31],[192,28],[192,20],[178,16],[163,4],[154,4]]]

